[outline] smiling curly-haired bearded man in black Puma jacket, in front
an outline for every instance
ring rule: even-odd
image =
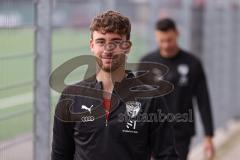
[[[168,114],[164,101],[131,90],[142,82],[125,70],[131,48],[128,18],[108,11],[93,19],[90,31],[97,72],[62,92],[54,117],[52,160],[178,159],[173,128],[155,117]]]

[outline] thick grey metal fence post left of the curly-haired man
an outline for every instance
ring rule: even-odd
[[[50,159],[50,88],[52,0],[36,0],[35,84],[34,84],[34,160]]]

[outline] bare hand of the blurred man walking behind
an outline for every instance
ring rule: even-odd
[[[215,149],[214,149],[212,137],[205,136],[203,145],[204,145],[203,147],[204,147],[204,153],[206,158],[208,160],[213,160]]]

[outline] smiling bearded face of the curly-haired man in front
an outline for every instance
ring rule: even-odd
[[[126,35],[94,31],[90,40],[90,49],[96,57],[98,66],[105,72],[113,72],[125,65],[126,54],[131,43]]]

